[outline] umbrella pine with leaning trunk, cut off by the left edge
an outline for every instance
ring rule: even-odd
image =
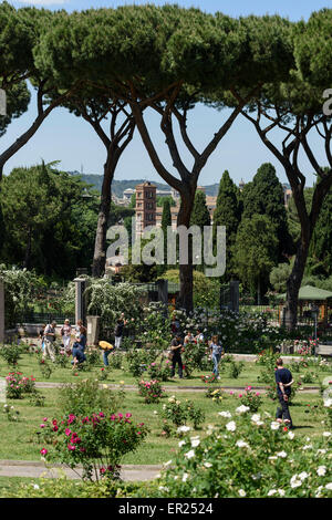
[[[8,2],[0,4],[0,87],[8,92],[11,117],[27,110],[30,94],[25,80],[29,79],[37,91],[37,117],[7,149],[0,152],[0,181],[6,163],[29,142],[68,95],[68,91],[59,90],[54,77],[43,74],[34,59],[42,33],[50,30],[55,19],[65,17],[65,11],[37,8],[15,10]],[[9,122],[7,118],[7,124]]]

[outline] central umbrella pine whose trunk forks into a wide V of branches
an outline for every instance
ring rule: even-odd
[[[164,12],[169,13],[172,9],[174,10],[167,6]],[[167,28],[167,24],[165,27]],[[178,226],[189,227],[199,174],[239,112],[260,84],[274,81],[288,72],[291,63],[288,44],[289,27],[288,22],[278,17],[257,19],[252,27],[231,20],[221,13],[212,17],[195,9],[187,10],[184,14],[178,12],[176,32],[168,37],[165,45],[167,54],[160,62],[167,65],[167,76],[164,80],[164,70],[160,71],[159,77],[164,80],[163,89],[154,89],[156,95],[163,94],[160,102],[156,103],[155,97],[151,95],[151,87],[155,86],[155,82],[137,85],[136,80],[128,80],[132,94],[129,103],[152,163],[163,179],[180,194]],[[170,75],[174,83],[168,80]],[[149,86],[148,95],[142,97],[142,90],[146,84]],[[168,84],[167,90],[166,84]],[[222,92],[224,102],[219,104],[219,108],[222,108],[225,93],[243,86],[247,89],[247,98],[234,103],[229,117],[219,126],[207,146],[199,152],[187,131],[189,110],[197,101],[214,103],[218,91]],[[170,174],[156,152],[142,113],[143,102],[159,115],[160,127],[177,177]],[[190,169],[185,166],[179,153],[174,122],[178,123],[183,143],[193,157]],[[180,266],[178,305],[187,311],[193,309],[193,259],[190,258],[187,266]]]

